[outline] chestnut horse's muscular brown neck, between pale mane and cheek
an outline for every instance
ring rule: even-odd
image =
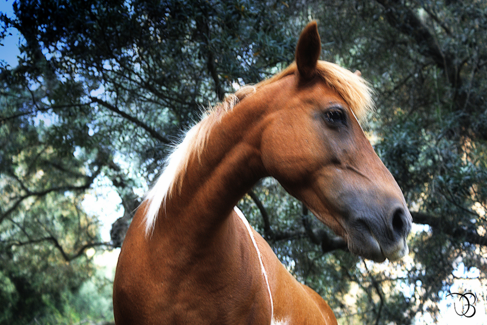
[[[254,96],[216,122],[201,154],[190,156],[180,188],[167,198],[155,232],[179,226],[185,236],[208,236],[245,192],[266,176],[258,147],[265,103]]]

